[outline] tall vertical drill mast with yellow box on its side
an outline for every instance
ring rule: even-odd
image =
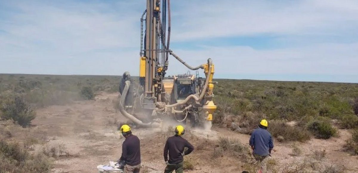
[[[168,4],[169,3],[170,1],[168,0]],[[162,8],[160,8],[160,5]],[[144,55],[144,57],[141,57],[140,65],[140,81],[144,88],[143,108],[155,109],[155,102],[161,101],[160,94],[163,88],[161,81],[164,78],[165,70],[168,68],[170,36],[168,36],[168,43],[165,45],[166,0],[147,0],[147,9],[144,13],[146,13],[144,32],[145,49],[140,52],[141,56]],[[144,13],[141,22],[144,21]],[[141,32],[143,35],[143,31]],[[169,33],[170,26],[168,27],[168,34]],[[142,39],[143,37],[141,37],[141,43],[143,42]]]

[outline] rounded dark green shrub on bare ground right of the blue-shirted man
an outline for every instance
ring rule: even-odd
[[[308,123],[307,129],[319,139],[329,139],[337,134],[337,130],[328,121],[313,120]]]

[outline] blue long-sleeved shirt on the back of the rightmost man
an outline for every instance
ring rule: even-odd
[[[260,127],[252,132],[250,145],[253,146],[253,153],[261,156],[269,155],[269,149],[274,148],[270,132]]]

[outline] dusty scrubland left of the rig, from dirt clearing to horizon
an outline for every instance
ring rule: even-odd
[[[92,100],[99,91],[117,92],[118,76],[0,74],[0,120],[31,125],[36,107]]]

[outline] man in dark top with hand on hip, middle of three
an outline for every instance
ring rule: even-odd
[[[172,173],[174,170],[176,173],[183,173],[183,156],[190,154],[194,150],[193,145],[181,137],[184,135],[184,132],[185,130],[182,125],[176,126],[175,135],[166,140],[164,147],[164,161],[166,167],[164,173]],[[187,147],[188,150],[184,152],[185,147]]]

